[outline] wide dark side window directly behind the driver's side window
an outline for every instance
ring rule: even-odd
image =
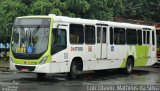
[[[84,43],[84,31],[83,25],[80,24],[70,24],[70,43],[72,44],[82,44]]]

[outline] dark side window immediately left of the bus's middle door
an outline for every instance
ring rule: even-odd
[[[95,27],[85,25],[85,43],[95,44]]]

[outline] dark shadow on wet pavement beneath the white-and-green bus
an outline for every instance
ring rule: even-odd
[[[21,73],[23,74],[23,73]],[[103,70],[103,71],[96,71],[96,72],[90,72],[90,73],[84,73],[81,78],[77,80],[68,80],[66,78],[65,74],[49,74],[45,79],[38,79],[36,75],[32,77],[23,77],[19,79],[14,79],[14,81],[19,82],[21,84],[54,84],[58,85],[61,82],[90,82],[90,81],[100,81],[100,80],[109,80],[109,79],[118,79],[121,77],[129,77],[129,76],[140,76],[140,75],[146,75],[149,74],[149,71],[146,70],[133,70],[133,73],[128,75],[125,74],[125,72],[122,69],[116,69],[116,70]],[[27,74],[26,74],[27,75]],[[12,82],[12,81],[7,81]]]

